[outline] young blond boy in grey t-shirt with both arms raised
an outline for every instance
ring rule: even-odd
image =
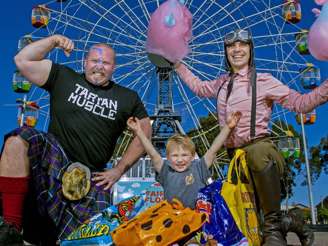
[[[164,188],[164,198],[171,203],[172,199],[179,200],[186,208],[195,209],[195,200],[200,188],[213,174],[212,164],[217,152],[221,149],[242,116],[241,111],[232,112],[225,121],[220,134],[214,139],[212,146],[205,155],[197,161],[195,159],[195,144],[190,137],[177,134],[167,140],[166,158],[170,166],[164,164],[162,157],[156,152],[151,141],[147,138],[137,118],[130,117],[127,125],[137,135],[150,156],[155,170],[156,181]],[[163,165],[164,164],[164,165]]]

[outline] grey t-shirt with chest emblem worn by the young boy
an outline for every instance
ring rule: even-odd
[[[160,173],[156,173],[155,176],[156,181],[164,188],[164,198],[168,203],[175,198],[182,203],[183,207],[195,209],[198,190],[204,187],[206,180],[212,176],[212,168],[208,169],[203,157],[193,161],[190,168],[181,173],[174,171],[167,164],[169,163],[165,161]]]

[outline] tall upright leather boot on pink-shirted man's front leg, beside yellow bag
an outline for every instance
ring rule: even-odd
[[[260,208],[264,215],[261,223],[263,246],[286,246],[286,232],[280,211],[280,180],[276,162],[271,160],[260,171],[252,171]]]

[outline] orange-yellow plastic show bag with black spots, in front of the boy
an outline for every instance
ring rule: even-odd
[[[204,213],[183,208],[176,199],[172,204],[165,200],[117,227],[111,236],[116,246],[162,246],[198,230],[205,221]]]

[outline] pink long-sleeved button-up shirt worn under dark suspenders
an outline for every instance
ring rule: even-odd
[[[202,81],[195,76],[183,64],[177,68],[177,73],[183,82],[198,96],[215,98],[220,85],[227,80],[217,96],[217,114],[222,129],[227,116],[231,111],[241,110],[243,116],[225,141],[226,147],[239,147],[251,140],[251,108],[252,89],[250,85],[251,67],[247,66],[239,70],[239,75],[233,82],[233,87],[226,100],[227,86],[230,75],[221,75],[213,81]],[[269,120],[272,113],[273,102],[297,113],[309,113],[317,106],[328,100],[328,79],[320,86],[308,93],[289,88],[271,74],[257,73],[257,105],[255,138],[268,136]]]

